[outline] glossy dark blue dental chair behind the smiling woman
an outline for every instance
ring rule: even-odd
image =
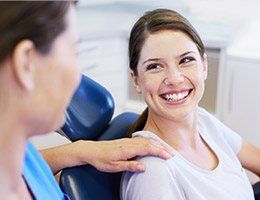
[[[72,141],[126,137],[138,115],[123,113],[110,121],[113,111],[111,94],[98,83],[83,76],[67,110],[62,132]],[[60,176],[60,187],[72,200],[117,200],[120,178],[121,173],[99,172],[90,165],[84,165],[64,169]]]

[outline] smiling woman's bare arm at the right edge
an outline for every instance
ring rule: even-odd
[[[260,148],[242,141],[238,159],[242,166],[260,177]]]

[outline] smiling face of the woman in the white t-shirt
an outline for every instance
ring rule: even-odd
[[[140,53],[138,76],[132,77],[149,112],[168,119],[190,114],[204,92],[207,61],[183,32],[150,34]]]

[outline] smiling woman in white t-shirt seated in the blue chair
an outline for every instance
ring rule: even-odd
[[[208,66],[192,25],[171,10],[145,13],[132,28],[129,59],[148,106],[130,136],[156,139],[175,155],[137,158],[147,170],[124,174],[122,199],[254,199],[243,167],[259,174],[260,151],[198,106]]]

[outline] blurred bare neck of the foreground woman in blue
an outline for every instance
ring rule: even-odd
[[[25,129],[15,119],[16,116],[7,112],[0,116],[0,194],[21,196],[24,191],[21,178],[28,138]]]

